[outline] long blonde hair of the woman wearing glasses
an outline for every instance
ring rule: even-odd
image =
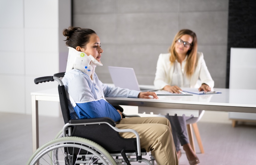
[[[196,58],[197,57],[197,38],[195,33],[189,29],[180,30],[175,35],[171,46],[168,48],[168,52],[170,52],[171,54],[170,61],[173,64],[173,62],[177,58],[177,53],[175,51],[175,43],[183,35],[190,35],[193,38],[193,43],[192,43],[192,46],[190,47],[191,49],[189,49],[189,51],[187,52],[188,58],[187,58],[186,67],[185,67],[186,75],[190,77],[194,73],[196,62],[197,62],[197,58]]]

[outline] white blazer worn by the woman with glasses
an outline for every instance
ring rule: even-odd
[[[163,89],[166,85],[171,85],[173,70],[174,64],[171,64],[170,53],[160,54],[155,73],[155,88]],[[197,65],[195,66],[194,73],[190,77],[190,88],[199,88],[201,86],[198,83],[198,79],[201,80],[201,84],[205,83],[211,88],[214,87],[214,81],[207,69],[202,52],[197,52]]]

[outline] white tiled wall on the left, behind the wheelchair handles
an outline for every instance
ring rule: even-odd
[[[59,72],[58,9],[58,0],[0,0],[1,112],[31,114],[31,92],[57,90],[56,82],[35,85],[34,79]],[[58,116],[53,109],[57,102],[39,102],[39,114]]]

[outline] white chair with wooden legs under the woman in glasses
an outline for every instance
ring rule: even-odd
[[[203,115],[204,115],[204,110],[199,110],[199,116],[198,117],[192,117],[192,118],[187,117],[187,119],[186,119],[187,131],[188,131],[187,133],[188,133],[188,136],[189,136],[190,145],[191,145],[192,149],[195,152],[194,136],[193,136],[193,132],[192,132],[192,127],[193,127],[194,132],[195,132],[195,137],[196,137],[200,152],[202,154],[204,153],[204,148],[203,148],[200,133],[199,133],[199,130],[198,130],[197,122],[201,119],[201,117]]]

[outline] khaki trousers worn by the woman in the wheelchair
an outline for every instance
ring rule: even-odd
[[[132,117],[117,122],[119,129],[133,129],[139,133],[140,146],[151,151],[158,165],[178,165],[171,125],[164,117]],[[119,133],[123,138],[136,138],[131,132]]]

